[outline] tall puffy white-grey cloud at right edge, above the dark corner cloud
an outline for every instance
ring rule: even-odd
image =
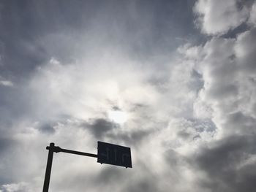
[[[255,29],[239,34],[237,39],[213,38],[185,53],[204,81],[194,104],[195,113],[198,118],[211,117],[222,134],[255,132],[256,48],[252,39]],[[237,118],[241,123],[235,122]]]

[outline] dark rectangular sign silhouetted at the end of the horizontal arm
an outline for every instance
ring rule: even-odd
[[[107,142],[98,142],[98,160],[100,164],[111,164],[132,168],[131,149]]]

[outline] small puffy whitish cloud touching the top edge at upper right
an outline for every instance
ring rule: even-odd
[[[197,24],[205,34],[225,34],[241,25],[249,16],[249,8],[241,0],[199,0],[195,3]]]

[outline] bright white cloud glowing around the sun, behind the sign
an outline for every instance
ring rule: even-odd
[[[58,163],[53,165],[55,174],[51,177],[50,187],[56,191],[80,191],[87,185],[92,191],[102,188],[129,191],[130,183],[135,183],[133,191],[165,191],[174,185],[166,180],[173,180],[177,172],[186,169],[175,186],[179,191],[186,191],[194,184],[189,183],[189,170],[178,160],[179,152],[188,151],[187,141],[191,145],[196,142],[197,131],[202,132],[200,137],[206,138],[203,132],[207,131],[204,130],[213,126],[211,123],[200,126],[186,120],[192,118],[192,104],[202,86],[200,74],[195,72],[191,62],[183,61],[183,58],[173,58],[167,61],[165,68],[155,68],[150,64],[140,65],[138,60],[119,50],[112,51],[105,51],[101,58],[83,57],[71,63],[61,62],[53,56],[30,76],[26,91],[33,96],[33,115],[29,114],[23,124],[18,122],[20,126],[13,134],[15,138],[22,138],[22,143],[29,136],[26,145],[32,145],[38,139],[31,151],[39,153],[38,158],[45,161],[38,161],[39,174],[24,174],[23,181],[29,183],[29,177],[43,180],[47,154],[43,149],[48,142],[55,141],[60,147],[95,153],[96,141],[102,139],[131,147],[132,162],[138,171],[127,170],[118,174],[116,168],[111,168],[115,171],[108,172],[111,185],[106,189],[103,185],[106,179],[101,177],[102,184],[99,185],[98,175],[104,174],[107,168],[99,166],[95,160],[58,153],[54,157],[54,162]],[[126,123],[117,126],[108,119],[108,111],[114,107],[129,114]],[[173,119],[178,123],[170,123]],[[186,135],[188,137],[184,137]],[[176,149],[176,145],[172,145],[175,149],[171,150],[167,145],[170,137],[171,142],[175,142],[174,136],[179,137],[178,147],[183,147],[182,150]],[[38,149],[42,151],[37,152]],[[176,150],[178,152],[171,153]],[[151,152],[154,152],[153,157]],[[180,162],[177,167],[166,169],[170,167],[170,162],[167,162],[170,157],[162,158],[168,156],[165,152],[169,155],[177,153],[177,162]],[[32,154],[27,158],[33,158]],[[81,178],[91,179],[85,181]],[[181,178],[188,180],[186,188],[181,187]],[[36,184],[39,186],[40,183]]]

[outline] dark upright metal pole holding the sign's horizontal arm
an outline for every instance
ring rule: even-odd
[[[49,189],[50,170],[53,164],[54,143],[51,142],[50,147],[46,147],[46,149],[49,150],[49,153],[48,153],[48,160],[47,160],[46,171],[45,171],[45,182],[44,182],[44,187],[42,188],[42,192],[48,192],[48,189]]]

